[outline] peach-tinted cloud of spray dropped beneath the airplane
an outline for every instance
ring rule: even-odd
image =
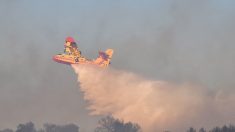
[[[220,122],[226,117],[229,121],[229,113],[235,108],[234,95],[210,94],[209,90],[193,84],[149,80],[112,68],[72,67],[78,74],[91,115],[111,114],[140,124],[144,132],[183,131],[190,125],[208,125],[208,121],[212,125],[213,118]],[[225,104],[231,110],[229,113],[228,109],[223,109]]]

